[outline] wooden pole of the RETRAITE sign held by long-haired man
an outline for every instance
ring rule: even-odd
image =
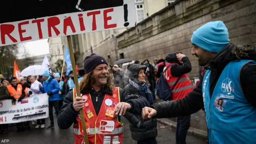
[[[80,89],[79,89],[79,84],[78,84],[78,76],[77,76],[77,71],[76,71],[76,66],[75,66],[75,56],[74,56],[74,52],[73,52],[72,41],[71,41],[70,36],[67,36],[67,38],[68,38],[68,45],[69,45],[69,55],[70,55],[70,60],[71,60],[73,75],[74,75],[74,80],[75,80],[76,96],[80,97]],[[85,116],[84,116],[83,109],[80,109],[80,117],[81,117],[82,126],[83,126],[85,144],[89,144],[87,130],[86,130],[86,126],[85,126]]]

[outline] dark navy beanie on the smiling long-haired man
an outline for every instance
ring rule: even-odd
[[[99,64],[107,64],[106,59],[101,57],[96,53],[91,53],[91,55],[85,57],[84,60],[84,70],[85,75],[88,74],[92,69],[94,69]]]

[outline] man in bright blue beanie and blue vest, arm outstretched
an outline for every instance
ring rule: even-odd
[[[255,144],[256,48],[229,42],[222,21],[193,32],[192,55],[203,79],[185,98],[145,107],[144,118],[181,117],[205,108],[210,144]]]

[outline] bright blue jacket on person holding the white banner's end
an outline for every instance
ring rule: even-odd
[[[59,83],[53,77],[50,78],[49,82],[46,83],[43,81],[43,86],[40,88],[42,93],[52,92],[53,97],[49,97],[49,101],[58,101],[59,100]]]

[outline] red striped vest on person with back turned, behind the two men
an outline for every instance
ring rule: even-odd
[[[167,63],[165,65],[164,70],[170,64],[171,63]],[[164,74],[165,81],[168,83],[170,90],[173,87],[173,85],[176,83],[176,81],[179,79],[179,77],[174,77],[174,76],[171,75],[171,67],[168,70],[166,70],[166,72]],[[181,79],[177,83],[177,85],[171,91],[172,96],[171,96],[170,101],[175,101],[175,100],[182,99],[185,96],[187,96],[188,93],[190,93],[191,91],[193,91],[192,82],[189,80],[187,74],[183,74],[181,76]]]

